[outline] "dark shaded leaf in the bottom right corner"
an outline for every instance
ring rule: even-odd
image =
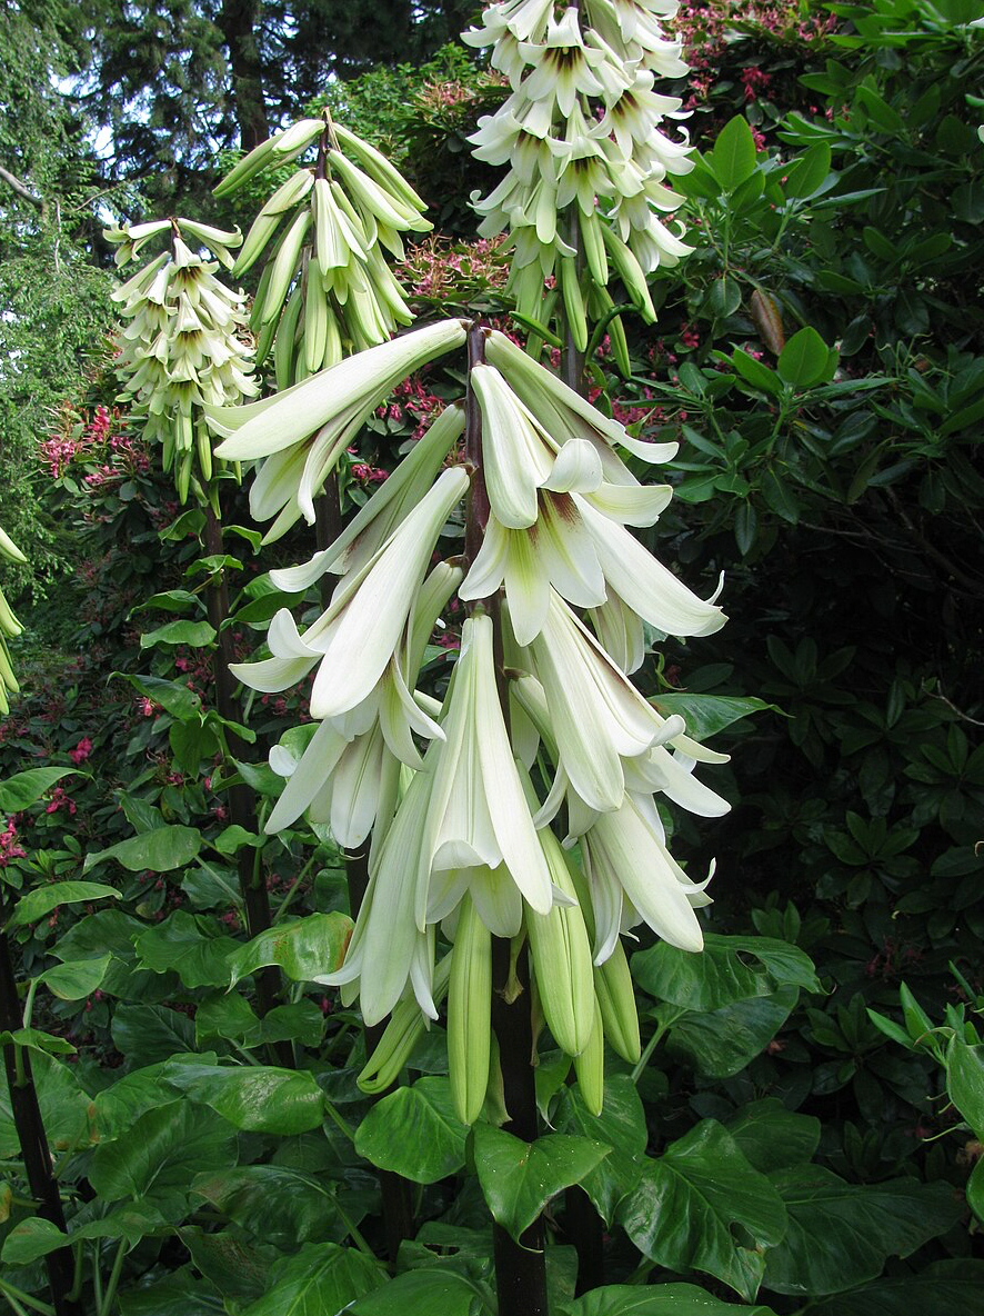
[[[984,1261],[938,1261],[916,1275],[879,1279],[810,1303],[810,1316],[971,1316],[980,1311]]]

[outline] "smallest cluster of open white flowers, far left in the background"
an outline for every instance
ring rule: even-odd
[[[116,368],[146,438],[162,445],[163,467],[184,503],[191,487],[205,499],[213,476],[204,408],[239,403],[258,390],[243,293],[214,276],[220,265],[233,266],[229,249],[242,234],[193,220],[155,220],[105,236],[117,243],[122,265],[163,234],[168,247],[113,292],[126,321],[116,340]],[[201,255],[201,247],[216,259]]]

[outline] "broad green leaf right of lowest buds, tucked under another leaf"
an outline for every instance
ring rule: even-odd
[[[688,1011],[670,1029],[667,1050],[706,1078],[731,1078],[766,1050],[799,995],[796,987],[780,987],[771,996],[737,1000],[706,1015]],[[663,1007],[656,1017],[674,1013],[672,1007]]]

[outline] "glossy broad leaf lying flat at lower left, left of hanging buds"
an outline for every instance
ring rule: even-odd
[[[253,1133],[307,1133],[325,1117],[325,1098],[307,1070],[192,1065],[168,1079],[193,1101],[210,1105],[237,1129]]]

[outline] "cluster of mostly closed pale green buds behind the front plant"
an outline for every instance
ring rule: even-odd
[[[266,253],[250,322],[259,337],[258,363],[274,350],[278,388],[410,324],[387,253],[401,261],[403,234],[431,228],[424,201],[389,161],[328,117],[274,134],[239,161],[216,196],[296,161],[314,143],[317,162],[276,188],[235,262],[235,272],[245,274]]]

